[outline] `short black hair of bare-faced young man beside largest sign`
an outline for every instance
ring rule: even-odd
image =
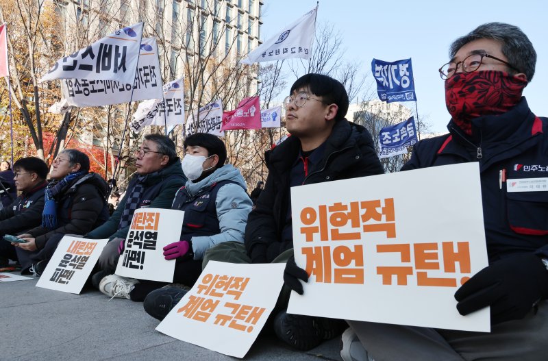
[[[338,80],[323,74],[309,73],[299,77],[291,87],[290,94],[301,88],[309,88],[310,92],[323,98],[324,103],[338,106],[336,121],[345,118],[348,112],[348,93],[345,86]]]

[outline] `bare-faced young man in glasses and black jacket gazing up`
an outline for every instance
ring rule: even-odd
[[[371,134],[345,119],[348,104],[345,87],[336,79],[320,74],[297,79],[284,100],[291,136],[266,152],[269,175],[247,219],[245,245],[224,242],[204,258],[204,266],[209,260],[287,263],[286,286],[273,312],[274,330],[278,338],[301,350],[337,336],[346,324],[286,312],[290,288],[302,293],[293,275],[306,275],[293,258],[290,188],[383,173]]]

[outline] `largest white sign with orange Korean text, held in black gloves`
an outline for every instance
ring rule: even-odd
[[[291,207],[311,277],[288,312],[490,330],[488,308],[461,316],[453,296],[488,265],[477,163],[292,187]]]

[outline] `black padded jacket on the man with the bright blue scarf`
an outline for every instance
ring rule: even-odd
[[[86,234],[108,219],[105,201],[107,183],[97,173],[87,173],[73,182],[56,197],[58,227],[36,227],[29,230],[36,238],[36,247],[44,248],[55,234]]]

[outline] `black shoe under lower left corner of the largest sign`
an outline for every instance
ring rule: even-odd
[[[319,317],[279,312],[274,320],[276,336],[301,351],[308,351],[321,344],[323,329]]]

